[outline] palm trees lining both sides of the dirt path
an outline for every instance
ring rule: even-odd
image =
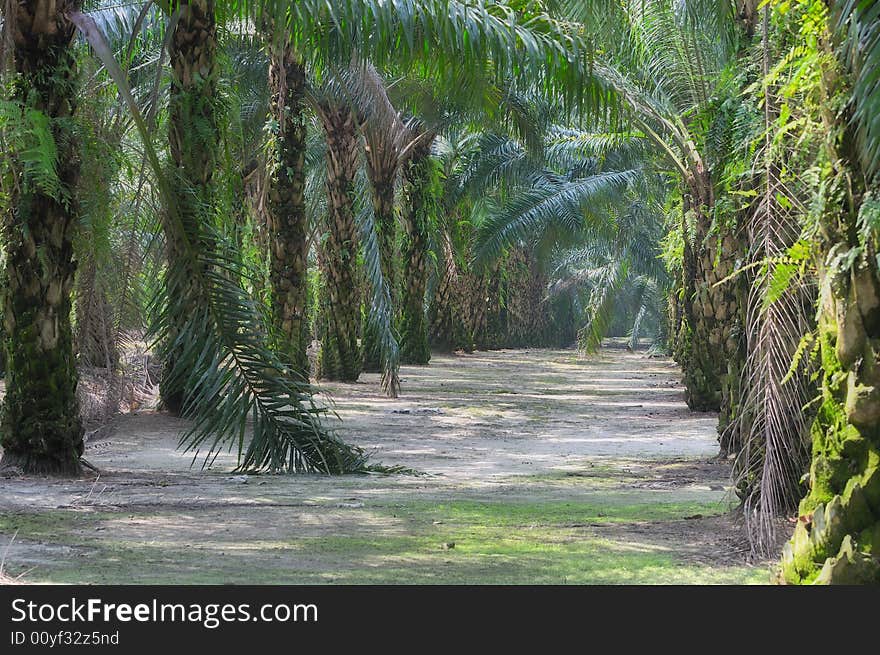
[[[184,447],[324,473],[310,374],[643,335],[782,578],[880,581],[874,3],[7,7],[4,464],[78,474],[144,330]]]

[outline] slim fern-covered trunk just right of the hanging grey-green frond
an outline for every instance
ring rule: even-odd
[[[431,359],[425,292],[428,287],[428,230],[434,210],[432,141],[432,137],[423,138],[413,148],[403,170],[405,234],[400,361],[404,364],[427,364]]]

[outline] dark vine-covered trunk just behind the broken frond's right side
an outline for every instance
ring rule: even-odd
[[[272,318],[278,352],[308,378],[305,69],[289,45],[270,44],[269,88],[278,126],[266,207]]]

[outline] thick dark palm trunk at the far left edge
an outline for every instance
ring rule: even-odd
[[[61,191],[50,194],[26,172],[15,171],[11,209],[3,216],[7,375],[0,418],[2,465],[26,473],[77,475],[83,428],[70,312],[78,218],[72,194],[80,170],[69,127],[77,71],[74,26],[67,15],[79,11],[82,2],[36,0],[11,6],[16,13],[5,16],[4,31],[13,31],[18,73],[13,99],[49,119]]]

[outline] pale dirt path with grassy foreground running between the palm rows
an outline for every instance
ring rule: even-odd
[[[190,469],[182,421],[126,416],[76,481],[0,479],[7,574],[105,583],[745,583],[716,453],[665,359],[608,348],[435,357],[328,385],[343,436],[419,476]]]

